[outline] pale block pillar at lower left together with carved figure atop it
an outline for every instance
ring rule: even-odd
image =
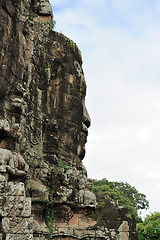
[[[0,239],[29,240],[33,239],[31,198],[22,182],[26,172],[8,165],[14,158],[14,153],[0,148]],[[16,154],[14,162],[19,158]]]

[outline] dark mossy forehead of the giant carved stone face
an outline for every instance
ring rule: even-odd
[[[81,54],[76,44],[63,34],[51,36],[48,59],[51,59],[52,80],[57,90],[82,97],[86,82],[82,70]]]

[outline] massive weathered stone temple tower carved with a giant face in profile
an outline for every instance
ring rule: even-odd
[[[0,239],[127,240],[92,217],[82,58],[51,28],[48,0],[0,0]]]

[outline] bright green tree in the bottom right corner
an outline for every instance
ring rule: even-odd
[[[147,215],[144,222],[137,224],[139,240],[159,240],[160,239],[160,212]]]

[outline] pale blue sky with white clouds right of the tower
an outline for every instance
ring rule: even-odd
[[[88,176],[128,182],[146,195],[147,213],[160,211],[160,1],[50,3],[55,30],[82,53]]]

